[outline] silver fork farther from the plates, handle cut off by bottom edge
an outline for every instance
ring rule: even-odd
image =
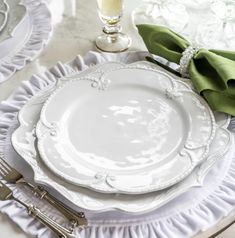
[[[14,197],[12,190],[5,184],[0,181],[0,200],[15,200],[16,202],[23,205],[28,214],[32,217],[36,217],[41,223],[45,226],[49,227],[52,231],[54,231],[58,237],[61,238],[75,238],[75,235],[72,230],[68,230],[63,226],[59,225],[57,222],[46,216],[42,213],[37,207],[34,205],[27,205],[23,201],[19,200],[18,198]]]

